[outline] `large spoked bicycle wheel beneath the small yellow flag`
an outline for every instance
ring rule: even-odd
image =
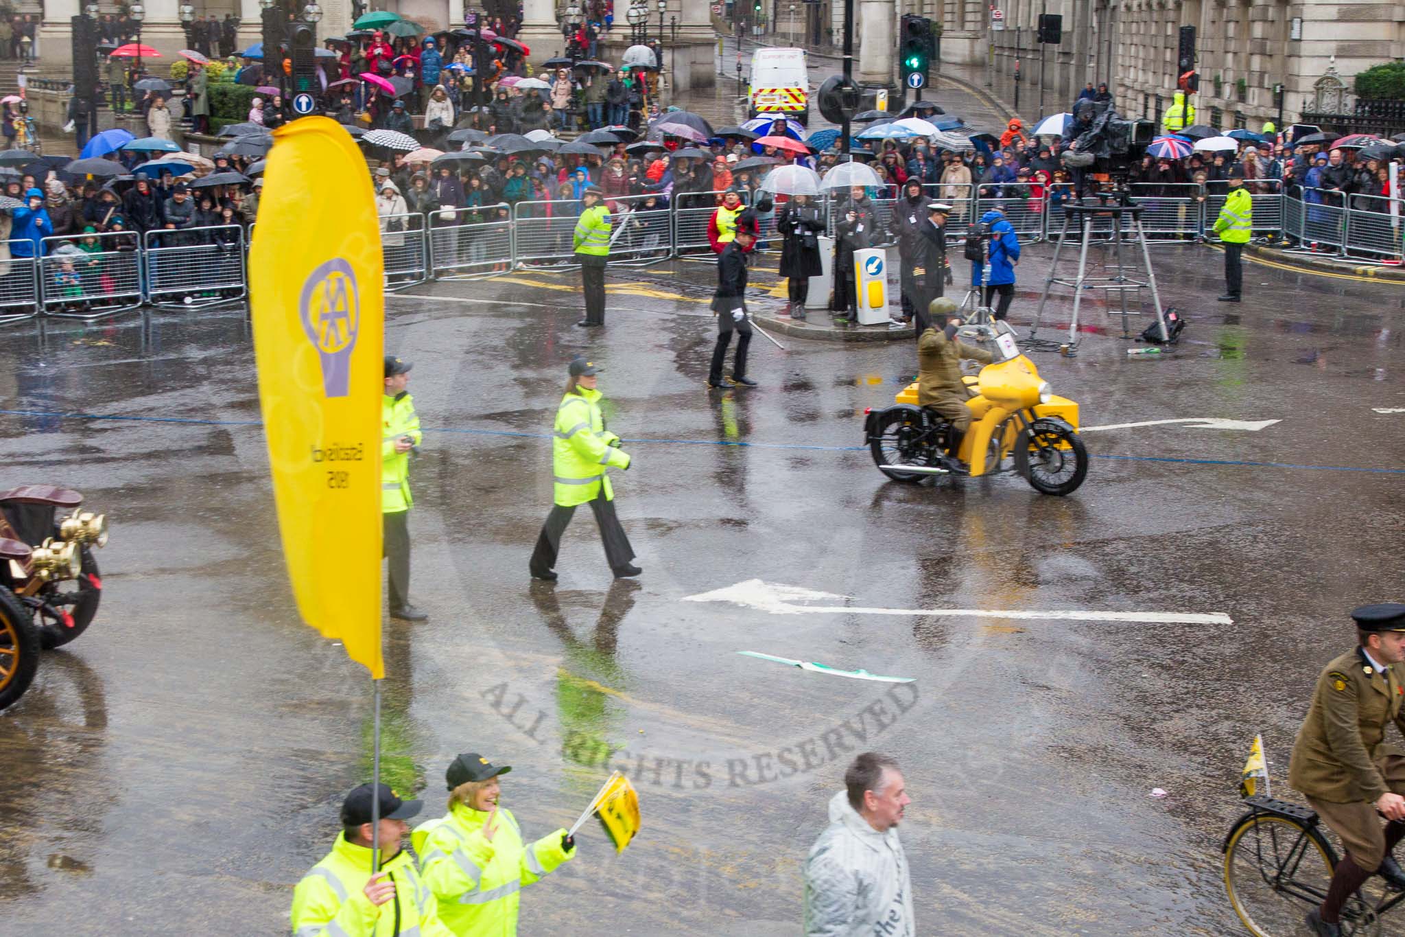
[[[1225,891],[1256,937],[1308,934],[1304,917],[1326,896],[1336,854],[1297,820],[1250,813],[1225,840]]]

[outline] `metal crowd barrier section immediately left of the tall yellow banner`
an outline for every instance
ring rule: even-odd
[[[153,306],[214,306],[249,295],[242,225],[149,230],[143,246]]]

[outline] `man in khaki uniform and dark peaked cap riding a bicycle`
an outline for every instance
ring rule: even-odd
[[[1391,850],[1405,837],[1405,752],[1385,742],[1394,722],[1405,732],[1405,604],[1383,603],[1352,611],[1359,645],[1318,676],[1288,764],[1288,784],[1342,837],[1346,856],[1336,864],[1321,907],[1308,913],[1315,934],[1342,933],[1343,902],[1380,871],[1392,888],[1405,872]],[[1390,820],[1384,827],[1380,816]]]

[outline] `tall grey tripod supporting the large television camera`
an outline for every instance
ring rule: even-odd
[[[1096,198],[1096,201],[1093,201]],[[1044,295],[1040,296],[1040,308],[1034,312],[1034,323],[1030,326],[1030,339],[1034,339],[1040,329],[1040,320],[1044,316],[1044,303],[1048,302],[1050,291],[1054,284],[1061,287],[1073,288],[1073,319],[1068,327],[1068,344],[1069,348],[1078,348],[1078,310],[1079,303],[1083,299],[1085,289],[1116,289],[1121,299],[1121,316],[1123,316],[1123,337],[1130,339],[1131,333],[1127,330],[1127,317],[1132,315],[1127,309],[1127,291],[1128,289],[1151,289],[1151,302],[1156,313],[1156,329],[1161,333],[1162,341],[1170,341],[1170,333],[1166,330],[1166,315],[1161,308],[1161,294],[1156,292],[1156,274],[1151,267],[1151,251],[1146,249],[1146,233],[1142,230],[1141,214],[1142,205],[1134,204],[1128,197],[1125,190],[1099,192],[1093,198],[1083,198],[1079,201],[1069,202],[1064,207],[1064,230],[1059,233],[1058,246],[1054,247],[1054,261],[1050,264],[1050,275],[1044,281]],[[1116,270],[1107,277],[1089,277],[1087,275],[1087,246],[1093,240],[1093,219],[1097,216],[1107,216],[1111,221],[1111,246],[1114,251]],[[1079,223],[1082,229],[1082,243],[1079,244],[1078,253],[1078,275],[1073,280],[1058,275],[1058,261],[1064,253],[1064,246],[1068,244],[1069,226],[1073,222]],[[1128,222],[1131,222],[1128,225]],[[1135,239],[1141,246],[1142,264],[1146,271],[1145,280],[1139,280],[1128,275],[1128,273],[1135,273],[1127,264],[1123,263],[1123,240],[1124,237]]]

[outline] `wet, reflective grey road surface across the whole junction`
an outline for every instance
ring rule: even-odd
[[[1050,253],[1027,249],[1017,325]],[[1287,792],[1346,610],[1399,597],[1405,416],[1373,407],[1405,407],[1402,291],[1249,264],[1248,302],[1227,308],[1218,253],[1155,257],[1190,319],[1175,354],[1128,360],[1094,302],[1078,357],[1034,354],[1041,374],[1086,427],[1279,423],[1090,431],[1068,499],[1013,476],[885,480],[861,412],[915,372],[908,343],[757,337],[762,386],[708,392],[708,264],[611,270],[589,333],[569,271],[391,298],[386,347],[414,361],[430,430],[412,593],[431,620],[386,627],[386,775],[433,815],[450,759],[482,752],[514,766],[503,802],[528,836],[569,825],[610,767],[631,775],[645,830],[617,857],[586,827],[579,858],[524,892],[527,934],[798,933],[799,863],[867,749],[908,778],[922,933],[1236,933],[1218,847],[1248,745],[1263,733]],[[754,305],[783,302],[774,257],[756,267]],[[584,513],[561,582],[527,577],[576,353],[606,365],[635,457],[615,490],[638,583],[610,579]],[[298,624],[285,583],[251,362],[237,309],[0,333],[6,483],[79,489],[112,521],[97,622],[0,715],[6,933],[282,933],[368,773],[368,680]],[[830,597],[684,601],[749,580]]]

